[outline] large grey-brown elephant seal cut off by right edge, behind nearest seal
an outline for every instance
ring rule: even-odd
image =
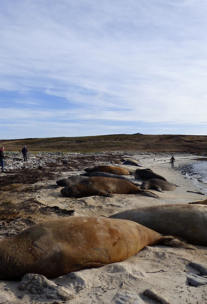
[[[207,246],[205,205],[158,205],[123,211],[110,218],[128,219],[159,233],[181,237],[190,244]]]

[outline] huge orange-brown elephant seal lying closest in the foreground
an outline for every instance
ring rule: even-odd
[[[173,246],[174,241],[127,220],[69,216],[45,221],[0,240],[0,279],[19,280],[27,273],[56,278],[124,261],[145,246]],[[176,246],[186,245],[177,240]]]

